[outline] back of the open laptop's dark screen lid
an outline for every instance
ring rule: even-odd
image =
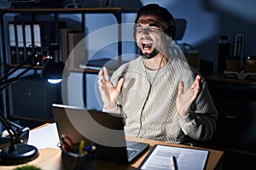
[[[81,139],[113,147],[125,146],[122,118],[102,111],[87,111],[69,105],[53,105],[59,134],[79,143]]]

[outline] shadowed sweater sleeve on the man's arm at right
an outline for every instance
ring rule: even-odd
[[[179,123],[183,133],[192,139],[207,141],[212,138],[216,129],[218,111],[207,88],[207,82],[202,79],[201,93],[191,105],[189,116],[180,117]]]

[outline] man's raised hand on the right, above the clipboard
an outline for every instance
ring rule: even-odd
[[[197,75],[195,77],[195,82],[185,93],[183,93],[183,82],[179,82],[176,106],[177,112],[180,116],[188,116],[190,106],[195,101],[197,94],[200,92],[200,82],[201,76]]]

